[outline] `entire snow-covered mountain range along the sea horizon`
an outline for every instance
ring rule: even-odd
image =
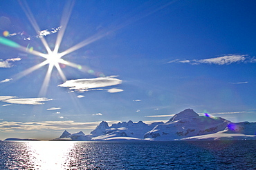
[[[199,116],[192,109],[175,114],[166,123],[152,124],[139,121],[108,125],[102,121],[91,134],[64,131],[57,140],[256,140],[256,123],[232,123],[205,114]]]

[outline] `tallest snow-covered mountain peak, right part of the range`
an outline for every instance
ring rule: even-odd
[[[201,136],[223,131],[230,121],[223,118],[199,116],[192,109],[185,109],[175,114],[167,123],[157,125],[148,131],[144,138],[154,140],[176,140],[189,136]]]

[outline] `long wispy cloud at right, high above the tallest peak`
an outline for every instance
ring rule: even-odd
[[[216,65],[229,65],[232,63],[255,63],[256,59],[248,55],[239,55],[239,54],[229,54],[225,56],[213,57],[210,59],[201,59],[201,60],[172,60],[167,63],[190,63],[191,65],[199,64],[216,64]]]

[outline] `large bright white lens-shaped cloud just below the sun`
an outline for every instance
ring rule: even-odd
[[[66,81],[65,83],[58,85],[60,87],[70,87],[71,90],[77,90],[78,92],[84,92],[88,90],[101,90],[98,87],[109,87],[112,85],[121,84],[122,81],[116,76],[106,76],[98,78],[82,78],[76,80]]]

